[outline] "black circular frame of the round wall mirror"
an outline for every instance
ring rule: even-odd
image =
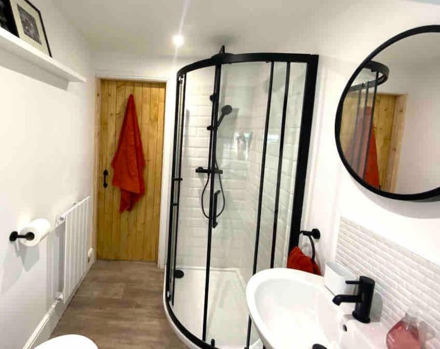
[[[382,190],[379,190],[375,187],[372,187],[372,185],[368,184],[366,181],[364,181],[361,177],[358,176],[358,174],[351,168],[350,164],[348,163],[347,159],[345,158],[342,146],[340,144],[339,139],[339,132],[340,132],[340,125],[341,125],[341,119],[342,119],[342,110],[344,107],[344,100],[349,92],[349,89],[351,85],[353,84],[353,81],[358,76],[358,74],[362,71],[362,69],[365,67],[368,62],[370,62],[377,54],[382,52],[384,49],[386,49],[388,46],[392,45],[393,43],[402,40],[404,38],[407,38],[409,36],[417,35],[417,34],[423,34],[423,33],[440,33],[440,25],[431,25],[431,26],[423,26],[423,27],[417,27],[410,30],[407,30],[403,33],[400,33],[384,43],[382,43],[376,50],[374,50],[368,57],[366,57],[362,63],[356,68],[353,75],[350,77],[349,81],[347,82],[347,85],[344,88],[344,91],[341,95],[341,98],[339,100],[339,104],[337,106],[336,110],[336,121],[335,121],[335,139],[336,139],[336,148],[339,153],[339,157],[342,160],[345,168],[350,173],[350,175],[365,189],[368,189],[369,191],[378,194],[380,196],[395,199],[395,200],[405,200],[405,201],[440,201],[440,187],[437,187],[435,189],[429,190],[427,192],[422,193],[416,193],[416,194],[395,194],[395,193],[389,193]]]

